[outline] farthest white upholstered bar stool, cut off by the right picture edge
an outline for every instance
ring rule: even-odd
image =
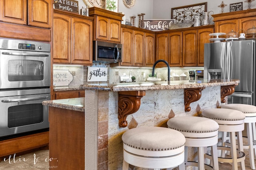
[[[246,125],[248,139],[248,145],[244,145],[244,149],[249,149],[250,166],[255,170],[254,153],[256,153],[256,145],[254,145],[254,140],[256,138],[256,106],[247,104],[226,104],[221,106],[221,108],[234,109],[244,113],[244,123]]]

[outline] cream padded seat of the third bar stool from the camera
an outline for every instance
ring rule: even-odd
[[[240,124],[244,123],[245,115],[241,111],[234,109],[206,109],[202,112],[202,116],[213,119],[217,123],[228,123],[232,124]]]

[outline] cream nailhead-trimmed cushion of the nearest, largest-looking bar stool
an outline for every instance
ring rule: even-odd
[[[124,145],[138,150],[166,151],[183,147],[182,133],[165,127],[136,127],[122,135]]]

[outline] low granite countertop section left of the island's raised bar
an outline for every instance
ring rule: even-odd
[[[84,112],[84,98],[46,100],[42,105]]]

